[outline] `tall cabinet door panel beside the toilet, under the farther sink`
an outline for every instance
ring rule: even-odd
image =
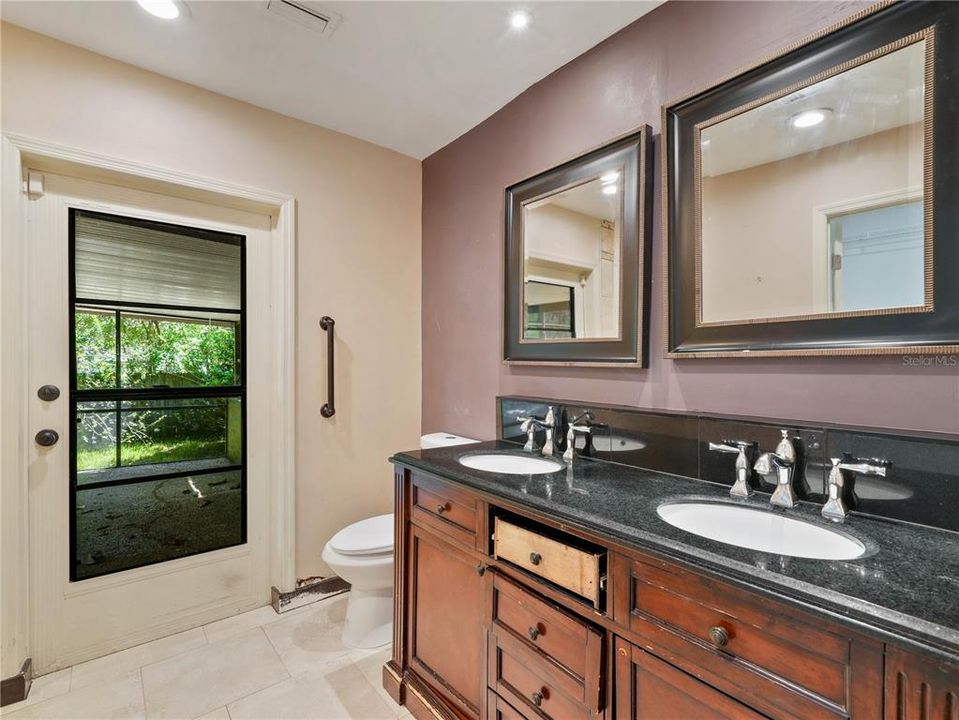
[[[410,664],[457,707],[477,717],[485,692],[483,580],[467,552],[413,526],[408,607]]]

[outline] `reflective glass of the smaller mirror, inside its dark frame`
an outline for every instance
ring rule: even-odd
[[[523,340],[618,338],[622,174],[523,205]]]

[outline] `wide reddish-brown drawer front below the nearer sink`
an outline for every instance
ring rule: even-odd
[[[755,693],[803,718],[848,717],[854,671],[875,682],[879,648],[828,621],[670,564],[619,562],[628,588],[614,603],[616,622],[730,694]]]

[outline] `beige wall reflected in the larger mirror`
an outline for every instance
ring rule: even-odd
[[[825,311],[813,290],[814,209],[915,187],[921,123],[703,178],[703,319]]]

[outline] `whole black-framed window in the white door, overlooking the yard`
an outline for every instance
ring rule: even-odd
[[[245,542],[245,239],[71,228],[71,580]]]

